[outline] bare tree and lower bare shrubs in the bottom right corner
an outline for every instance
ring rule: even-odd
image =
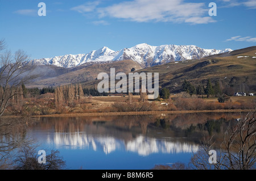
[[[229,123],[224,140],[218,145],[216,163],[210,164],[209,150],[217,148],[216,142],[203,141],[202,149],[193,155],[191,162],[196,169],[255,169],[256,159],[256,117],[255,111],[241,115],[236,124]]]

